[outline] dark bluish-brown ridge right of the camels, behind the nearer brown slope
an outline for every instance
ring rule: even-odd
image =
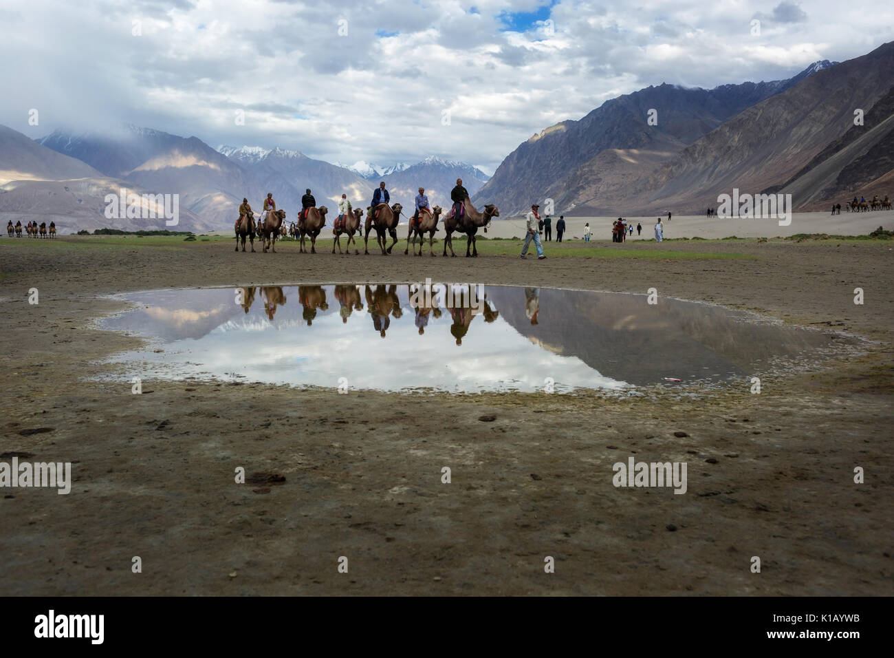
[[[513,214],[533,202],[552,199],[555,212],[613,209],[631,193],[630,168],[637,177],[766,98],[772,98],[833,63],[812,64],[793,78],[745,82],[713,90],[662,84],[603,103],[579,121],[565,121],[534,135],[505,158],[493,178],[474,196]],[[655,124],[649,124],[654,110]],[[603,151],[614,150],[603,155]],[[612,191],[606,196],[606,189]],[[638,192],[638,188],[635,188]]]

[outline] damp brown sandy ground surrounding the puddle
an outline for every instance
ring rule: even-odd
[[[75,482],[67,496],[0,490],[4,594],[894,594],[887,245],[678,243],[756,260],[521,261],[6,240],[0,452],[72,461]],[[873,343],[763,381],[760,395],[339,395],[144,380],[135,396],[129,378],[90,379],[108,367],[97,360],[139,345],[90,329],[122,308],[102,295],[426,277],[654,286]],[[52,429],[21,433],[37,428]],[[686,461],[687,493],[615,488],[611,465],[631,456]],[[239,466],[254,483],[234,483]]]

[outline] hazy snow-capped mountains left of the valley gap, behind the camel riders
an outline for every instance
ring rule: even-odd
[[[104,133],[55,131],[37,141],[0,128],[0,213],[22,221],[52,216],[61,232],[104,226],[173,228],[165,226],[164,219],[105,218],[105,195],[117,195],[121,189],[176,193],[181,209],[176,229],[211,231],[232,226],[243,197],[260,209],[267,192],[291,220],[308,188],[318,205],[334,212],[342,193],[356,207],[366,207],[380,181],[391,192],[392,202],[411,208],[420,184],[431,190],[433,204],[443,205],[456,178],[465,177],[469,192],[476,192],[487,179],[475,167],[439,158],[426,158],[417,165],[370,167],[367,179],[299,150],[213,149],[198,137],[134,125]]]

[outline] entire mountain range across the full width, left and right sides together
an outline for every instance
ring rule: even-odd
[[[894,42],[844,63],[816,62],[786,80],[713,90],[662,84],[613,98],[538,132],[493,177],[434,157],[342,167],[299,150],[213,149],[198,137],[133,125],[38,141],[0,126],[0,214],[51,218],[63,232],[164,228],[163,220],[105,218],[105,195],[127,188],[179,194],[181,230],[221,230],[243,197],[259,209],[273,192],[291,220],[307,188],[334,213],[342,193],[366,207],[384,181],[409,214],[420,185],[446,208],[457,178],[479,207],[495,203],[503,218],[535,201],[544,210],[546,199],[557,215],[703,213],[733,188],[791,193],[796,209],[826,209],[855,195],[894,194],[892,147]]]

